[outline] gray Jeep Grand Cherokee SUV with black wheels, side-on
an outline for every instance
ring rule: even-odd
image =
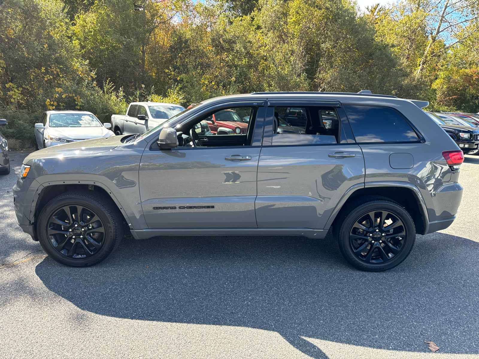
[[[73,267],[105,259],[127,225],[137,239],[321,239],[332,229],[354,267],[390,269],[416,233],[448,227],[461,202],[463,153],[426,105],[363,93],[210,99],[144,134],[32,153],[13,188],[15,211],[23,231]],[[249,116],[247,132],[195,130],[223,110]],[[277,131],[282,113],[297,132]]]

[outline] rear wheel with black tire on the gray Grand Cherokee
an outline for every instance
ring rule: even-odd
[[[375,217],[373,225],[368,213]],[[367,196],[342,210],[333,234],[344,259],[357,269],[378,272],[394,268],[408,257],[416,227],[399,203],[382,196]]]

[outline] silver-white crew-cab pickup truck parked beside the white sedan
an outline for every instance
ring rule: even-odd
[[[184,107],[162,102],[132,102],[125,115],[112,115],[115,135],[143,134],[184,111]]]

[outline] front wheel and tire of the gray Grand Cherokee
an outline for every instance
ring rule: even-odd
[[[48,256],[69,267],[89,267],[118,247],[122,224],[121,213],[109,199],[94,191],[71,191],[46,204],[36,230]]]

